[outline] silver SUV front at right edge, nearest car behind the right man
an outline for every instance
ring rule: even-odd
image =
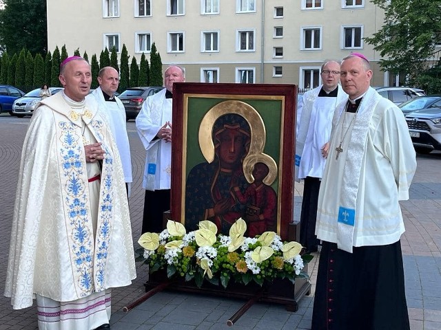
[[[441,108],[413,111],[406,115],[413,147],[418,153],[441,150]]]

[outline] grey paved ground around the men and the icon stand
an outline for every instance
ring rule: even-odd
[[[21,145],[28,118],[0,115],[0,330],[37,329],[36,309],[14,311],[3,297],[10,239],[10,221]],[[134,122],[127,123],[132,148],[134,183],[130,197],[134,242],[141,234],[143,212],[143,175],[145,151],[136,134]],[[412,330],[441,329],[441,153],[418,156],[418,173],[411,187],[411,199],[402,202],[407,231],[402,237],[407,304]],[[296,184],[296,217],[300,214],[302,184]],[[233,329],[310,329],[316,258],[309,264],[311,295],[300,300],[296,313],[282,305],[256,303]],[[226,322],[243,305],[243,300],[215,296],[161,292],[128,313],[122,307],[141,296],[147,280],[147,267],[137,265],[138,277],[129,287],[112,292],[112,330],[144,329],[227,329]],[[395,330],[395,329],[392,329]],[[398,329],[397,329],[398,330]]]

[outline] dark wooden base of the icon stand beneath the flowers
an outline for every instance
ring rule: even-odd
[[[307,264],[304,270],[307,272]],[[144,284],[145,292],[163,283],[169,283],[166,289],[179,292],[214,294],[216,296],[247,300],[255,298],[256,301],[265,303],[283,304],[287,311],[297,311],[300,299],[311,292],[311,283],[306,278],[296,278],[296,283],[294,284],[288,279],[276,278],[273,283],[264,283],[262,287],[254,282],[248,285],[229,283],[226,289],[221,285],[213,285],[204,281],[203,285],[199,288],[194,281],[185,282],[183,278],[167,278],[165,270],[150,274],[149,279]]]

